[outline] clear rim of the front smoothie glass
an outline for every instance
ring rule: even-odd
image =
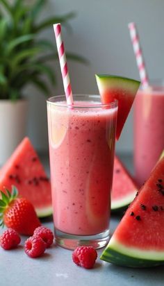
[[[97,98],[97,99],[99,99],[99,101],[101,100],[99,94],[73,94],[73,96],[75,96],[77,98],[78,97],[80,98],[80,97],[88,96],[89,99]],[[60,103],[61,100],[58,101],[58,99],[64,99],[65,104],[64,105],[61,104]],[[60,108],[71,108],[71,109],[72,109],[72,107],[73,107],[73,109],[74,108],[79,108],[79,109],[80,108],[84,108],[85,109],[85,108],[106,108],[106,107],[108,107],[108,108],[117,108],[117,106],[118,106],[117,99],[115,99],[114,101],[112,101],[110,103],[101,103],[101,101],[100,101],[99,103],[95,103],[94,104],[94,102],[93,102],[93,103],[90,103],[90,104],[87,104],[87,105],[83,104],[83,103],[81,103],[81,104],[77,104],[76,103],[76,104],[74,104],[72,106],[71,104],[67,104],[67,101],[66,101],[66,98],[65,98],[64,94],[49,97],[49,99],[47,99],[47,103],[51,103],[54,106],[57,106],[57,107],[60,107]],[[89,103],[89,101],[88,101],[88,103]]]

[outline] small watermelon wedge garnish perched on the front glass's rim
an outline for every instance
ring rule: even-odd
[[[119,140],[122,128],[140,86],[140,81],[104,74],[96,74],[96,81],[102,103],[110,103],[115,99],[118,101],[116,139]]]

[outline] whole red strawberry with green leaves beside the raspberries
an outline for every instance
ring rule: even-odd
[[[8,190],[6,194],[1,192],[0,217],[0,226],[5,224],[20,235],[33,235],[35,228],[41,225],[33,205],[27,199],[18,197],[15,186],[11,193]]]

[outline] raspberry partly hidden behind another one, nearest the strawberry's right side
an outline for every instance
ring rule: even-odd
[[[51,232],[49,228],[46,228],[44,226],[39,226],[38,228],[35,228],[33,235],[40,236],[44,242],[46,243],[46,247],[48,248],[51,246],[54,240],[54,235]]]

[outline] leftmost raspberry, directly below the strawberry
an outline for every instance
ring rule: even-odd
[[[14,249],[21,241],[18,233],[13,228],[8,228],[0,236],[0,246],[3,249]]]

